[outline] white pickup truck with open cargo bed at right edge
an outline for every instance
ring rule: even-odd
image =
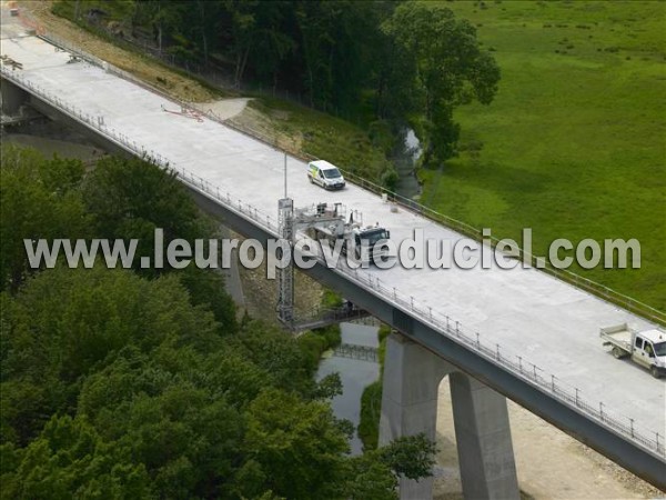
[[[632,361],[649,370],[653,377],[666,374],[666,333],[657,330],[636,331],[627,323],[602,328],[604,346],[612,347],[616,359],[632,357]]]

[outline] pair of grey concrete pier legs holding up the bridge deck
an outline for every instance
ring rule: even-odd
[[[463,493],[519,498],[506,399],[407,338],[386,340],[380,446],[401,436],[436,438],[440,382],[450,376]],[[400,480],[401,499],[432,498],[433,478]]]

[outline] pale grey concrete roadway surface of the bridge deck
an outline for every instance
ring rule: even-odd
[[[29,37],[2,40],[2,53],[23,64],[22,76],[92,117],[103,116],[107,128],[121,132],[149,151],[278,218],[283,197],[283,153],[209,119],[176,113],[179,106],[85,62],[68,63],[67,52]],[[345,168],[347,166],[340,166]],[[317,202],[344,203],[376,221],[400,242],[422,228],[425,238],[458,240],[460,234],[425,218],[400,210],[355,186],[327,192],[311,184],[305,163],[289,159],[289,196],[295,207]],[[627,214],[630,217],[630,214]],[[536,228],[538,230],[538,228]],[[625,234],[630,238],[632,234]],[[635,428],[654,439],[665,432],[666,380],[654,379],[628,360],[614,359],[602,346],[601,327],[628,322],[637,329],[654,324],[589,293],[534,269],[389,270],[372,268],[384,286],[395,287],[415,302],[448,314],[487,346],[501,344],[504,356],[521,356],[577,387],[593,407],[635,419]]]

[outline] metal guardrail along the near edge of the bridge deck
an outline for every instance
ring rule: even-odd
[[[224,193],[220,191],[219,187],[211,184],[205,179],[179,167],[168,158],[154,153],[142,144],[137,144],[135,141],[131,141],[127,136],[105,126],[103,117],[91,116],[90,113],[79,110],[68,101],[34,84],[30,79],[26,78],[24,74],[17,70],[9,70],[7,67],[0,66],[0,73],[19,87],[36,93],[40,99],[61,110],[73,120],[97,130],[98,133],[117,143],[128,152],[137,154],[175,173],[185,184],[219,201],[234,213],[256,222],[260,227],[266,229],[273,237],[279,237],[279,223],[275,218],[264,213],[250,203],[243,202],[243,200],[232,199],[229,192]],[[317,257],[317,260],[320,263],[326,264],[321,256]],[[421,321],[428,323],[440,333],[445,334],[450,339],[477,352],[491,362],[502,366],[522,380],[525,380],[539,390],[551,394],[553,398],[567,404],[574,410],[598,421],[606,428],[624,436],[626,439],[637,443],[649,452],[655,453],[662,459],[666,459],[665,437],[658,431],[648,430],[643,426],[636,426],[634,423],[635,419],[609,411],[602,401],[598,401],[597,404],[593,404],[583,398],[582,391],[578,390],[578,388],[559,380],[555,374],[546,373],[545,370],[528,362],[523,357],[503,349],[498,343],[488,346],[487,342],[482,341],[480,332],[472,332],[464,329],[458,321],[454,321],[447,314],[433,311],[432,307],[415,301],[413,297],[407,297],[396,290],[396,288],[386,287],[381,282],[380,278],[373,277],[369,272],[360,272],[357,269],[352,270],[344,266],[339,266],[333,269],[333,271],[345,274],[362,288],[377,294],[393,306],[406,312],[414,313]]]

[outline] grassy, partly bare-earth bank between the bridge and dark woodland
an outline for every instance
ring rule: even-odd
[[[142,54],[129,43],[122,43],[122,48],[118,47],[118,39],[99,30],[84,31],[69,22],[68,19],[73,19],[74,0],[48,1],[39,4],[41,8],[36,3],[23,4],[38,16],[41,24],[49,31],[56,31],[56,34],[74,41],[84,50],[173,97],[203,102],[230,94],[229,89],[213,88],[203,80],[189,78],[184,71],[167,67]],[[111,19],[122,19],[123,14],[118,4],[102,0],[87,0],[81,9],[85,11],[93,7],[102,8]],[[377,183],[381,182],[381,173],[390,168],[382,149],[374,146],[365,130],[356,124],[271,97],[256,96],[255,100],[250,102],[250,107],[256,112],[243,113],[233,121],[275,141],[290,152],[304,152],[324,158]]]

